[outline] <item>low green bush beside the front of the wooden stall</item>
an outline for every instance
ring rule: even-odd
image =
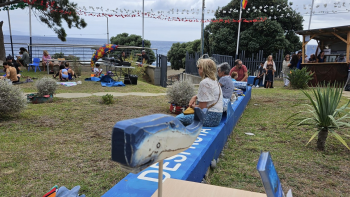
[[[287,76],[290,81],[290,85],[295,89],[306,89],[308,88],[308,83],[313,79],[314,73],[307,71],[307,67],[302,69],[291,70]]]

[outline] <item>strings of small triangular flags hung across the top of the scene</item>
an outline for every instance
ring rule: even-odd
[[[40,2],[40,4],[39,4]],[[37,3],[37,4],[35,4]],[[71,11],[67,11],[64,10],[62,8],[59,8],[56,4],[55,1],[50,1],[50,2],[46,2],[44,3],[44,1],[42,0],[23,0],[20,3],[17,4],[13,4],[10,6],[4,6],[1,10],[14,10],[14,9],[18,9],[18,8],[24,8],[28,5],[33,5],[35,6],[36,9],[42,9],[42,10],[50,10],[50,12],[59,12],[61,14],[69,14],[71,15]],[[290,14],[284,14],[281,13],[279,14],[279,12],[282,11],[291,11],[293,10],[293,8],[289,5],[276,5],[276,6],[259,6],[259,7],[255,7],[254,5],[250,5],[251,7],[246,8],[245,10],[243,10],[243,13],[250,13],[250,12],[255,12],[255,13],[269,13],[274,14],[275,16],[269,16],[268,19],[277,19],[277,18],[283,18],[283,17],[289,17]],[[330,10],[317,10],[317,8],[327,8],[327,7],[331,7],[333,8],[332,11]],[[349,9],[343,9],[349,7]],[[303,5],[303,8],[305,10],[305,12],[303,13],[303,15],[310,15],[311,13],[311,5]],[[336,8],[339,8],[341,10],[337,10]],[[88,11],[88,10],[93,10]],[[299,6],[296,5],[296,7],[294,8],[294,10],[298,10]],[[301,8],[300,8],[301,9]],[[101,12],[95,12],[101,10]],[[104,9],[102,6],[101,7],[93,7],[93,6],[89,6],[89,8],[87,9],[85,6],[82,7],[77,7],[75,8],[75,11],[79,14],[79,15],[85,15],[85,16],[95,16],[95,17],[103,17],[103,16],[108,16],[108,17],[122,17],[122,18],[128,18],[128,17],[140,17],[142,16],[142,11],[141,10],[129,10],[129,9],[122,9],[122,8],[115,8],[115,9]],[[105,11],[105,12],[103,12]],[[230,14],[232,12],[239,12],[238,9],[229,9],[229,10],[224,10],[222,8],[218,8],[217,10],[214,9],[206,9],[205,13],[206,14],[213,14],[216,11],[218,12],[222,12],[223,14]],[[108,13],[109,12],[109,13]],[[314,15],[325,15],[325,14],[340,14],[340,13],[348,13],[350,12],[350,3],[345,3],[345,2],[336,2],[333,4],[318,4],[316,6],[314,6],[314,10],[313,10],[313,14]],[[158,16],[155,16],[156,14],[158,14]],[[169,20],[170,16],[168,15],[174,15],[174,14],[187,14],[187,15],[197,15],[197,14],[201,14],[201,9],[175,9],[172,8],[170,10],[167,11],[160,11],[160,10],[156,10],[154,11],[153,9],[151,9],[151,11],[145,12],[145,15],[149,16],[150,18],[157,18],[157,19],[161,19],[161,20]],[[229,16],[229,15],[228,15]],[[177,16],[179,18],[183,18],[184,20],[186,20],[187,18],[191,18],[191,17],[181,17],[181,16]],[[196,19],[195,19],[196,20]],[[199,20],[199,19],[198,19]],[[206,19],[205,21],[208,21],[210,19]],[[251,19],[253,20],[253,19]]]

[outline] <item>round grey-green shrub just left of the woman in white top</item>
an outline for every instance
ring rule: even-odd
[[[178,106],[187,106],[195,95],[194,86],[190,81],[176,81],[167,90],[169,102]]]

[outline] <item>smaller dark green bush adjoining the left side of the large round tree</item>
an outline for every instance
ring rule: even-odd
[[[185,68],[186,51],[189,55],[193,55],[201,50],[201,40],[194,40],[192,42],[174,43],[168,51],[168,61],[171,63],[171,68],[179,70]]]

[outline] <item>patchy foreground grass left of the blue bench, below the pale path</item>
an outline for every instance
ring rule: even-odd
[[[54,185],[101,196],[124,178],[111,158],[111,131],[124,119],[167,113],[165,96],[57,99],[0,121],[0,196],[43,196]]]

